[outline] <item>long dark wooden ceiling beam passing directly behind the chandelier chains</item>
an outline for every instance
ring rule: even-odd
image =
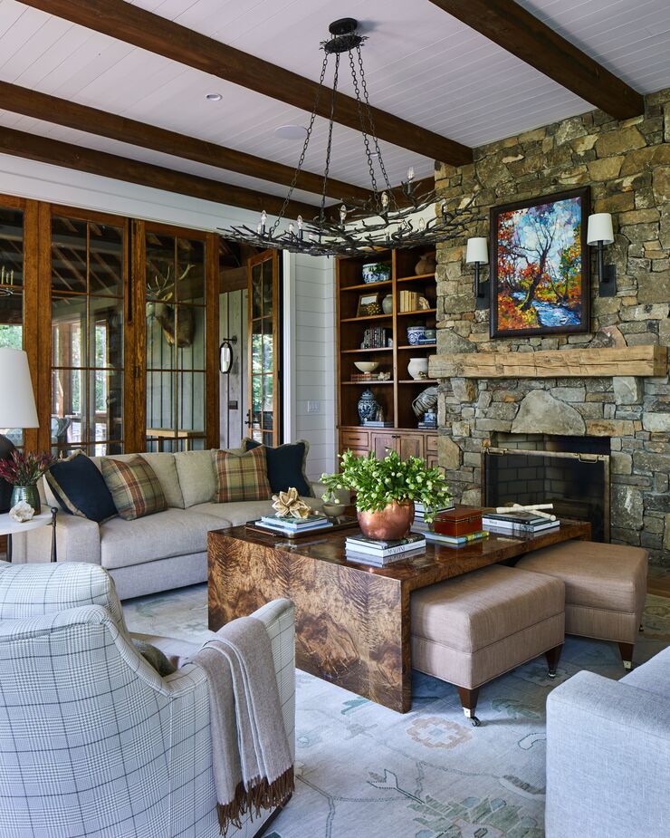
[[[226,82],[233,82],[272,99],[284,101],[303,111],[311,111],[314,106],[319,90],[317,82],[263,61],[255,55],[243,53],[123,0],[87,0],[86,3],[81,3],[81,0],[22,2],[111,38],[132,43],[150,53],[163,55],[172,61],[208,72],[225,79]],[[324,89],[317,111],[321,117],[330,117],[331,100],[330,91]],[[448,140],[377,108],[372,108],[372,114],[380,140],[387,140],[403,149],[410,149],[454,166],[472,162],[472,149],[455,140]],[[360,130],[357,101],[339,93],[334,119],[349,128]]]

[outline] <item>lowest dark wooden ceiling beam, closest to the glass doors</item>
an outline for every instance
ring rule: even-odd
[[[86,149],[61,140],[39,137],[10,128],[0,131],[0,153],[39,160],[42,163],[51,163],[66,169],[77,169],[92,175],[101,175],[104,178],[137,183],[140,186],[164,189],[166,192],[200,197],[229,207],[243,207],[258,212],[265,209],[270,214],[277,214],[282,207],[282,197],[266,195],[254,189],[199,178],[186,172],[164,169],[139,160],[118,157],[106,151]],[[311,218],[318,213],[318,207],[303,204],[300,201],[291,201],[286,213],[291,218],[298,215]]]

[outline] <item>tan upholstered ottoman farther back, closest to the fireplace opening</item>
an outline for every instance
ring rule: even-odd
[[[648,552],[623,544],[568,541],[516,563],[565,583],[565,632],[618,643],[630,669],[646,597]]]

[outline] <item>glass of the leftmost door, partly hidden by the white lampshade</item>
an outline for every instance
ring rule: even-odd
[[[0,346],[24,347],[24,211],[0,207]],[[23,445],[20,428],[0,428],[0,434]]]

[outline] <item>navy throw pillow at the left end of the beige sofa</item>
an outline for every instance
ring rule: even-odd
[[[52,466],[46,481],[64,512],[98,524],[118,515],[104,478],[83,451]]]

